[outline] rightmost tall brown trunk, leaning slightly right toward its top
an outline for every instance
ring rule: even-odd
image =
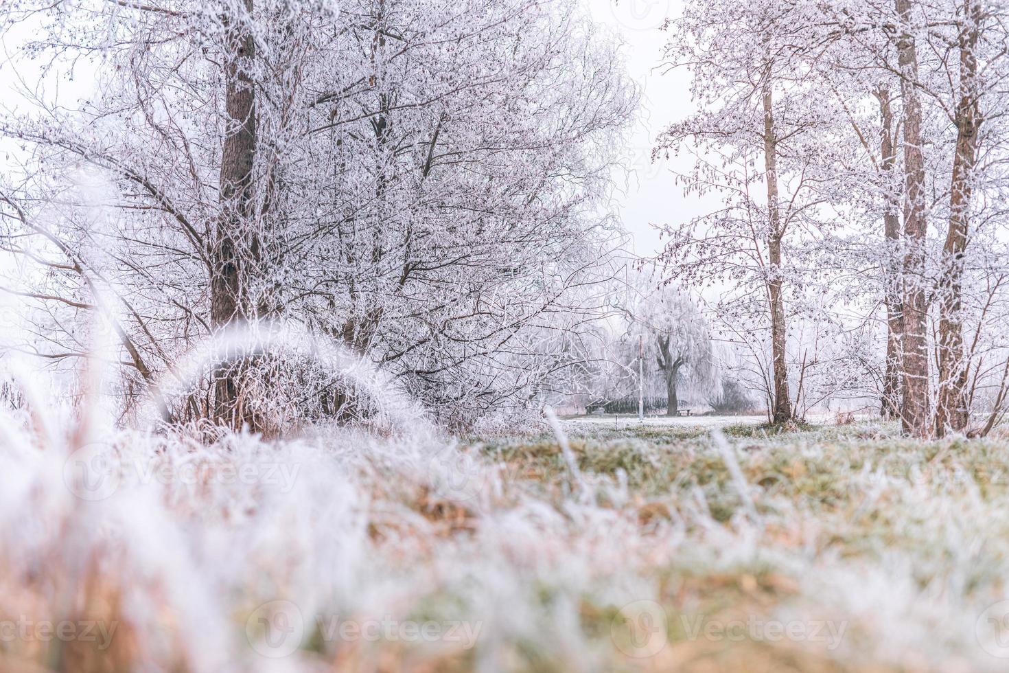
[[[963,276],[968,245],[968,224],[973,196],[972,173],[977,160],[978,32],[981,8],[977,0],[964,0],[960,31],[960,99],[957,103],[957,153],[949,189],[949,228],[942,248],[939,297],[939,392],[935,434],[964,432],[970,417],[967,404],[968,363],[964,350]]]

